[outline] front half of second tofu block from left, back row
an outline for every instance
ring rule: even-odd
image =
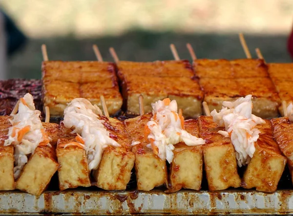
[[[196,118],[202,113],[203,92],[196,80],[188,77],[150,77],[138,75],[125,77],[123,96],[127,100],[127,110],[139,114],[139,95],[144,96],[146,112],[152,111],[151,103],[169,97],[177,100],[178,108],[186,117]]]

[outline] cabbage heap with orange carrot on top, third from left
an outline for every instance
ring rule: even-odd
[[[169,98],[152,104],[153,117],[145,127],[146,142],[162,160],[171,163],[174,157],[174,145],[185,142],[188,146],[203,145],[202,138],[191,135],[184,130],[184,118],[178,114],[177,102]]]

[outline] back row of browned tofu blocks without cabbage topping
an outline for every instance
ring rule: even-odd
[[[202,114],[202,102],[219,110],[223,101],[253,95],[253,113],[262,118],[282,113],[281,102],[293,99],[292,64],[268,64],[259,59],[196,59],[156,62],[62,62],[42,63],[43,104],[52,116],[62,116],[66,104],[82,97],[102,108],[104,95],[110,115],[122,106],[139,114],[138,97],[144,108],[169,97],[176,99],[186,117]],[[273,82],[272,82],[273,81]],[[119,91],[119,86],[121,93]]]

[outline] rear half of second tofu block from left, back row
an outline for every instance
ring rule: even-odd
[[[156,61],[156,62],[126,62],[117,64],[118,76],[129,75],[151,77],[193,77],[192,66],[188,60],[180,61]]]

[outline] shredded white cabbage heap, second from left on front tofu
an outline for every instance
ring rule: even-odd
[[[98,168],[107,146],[120,147],[109,137],[110,133],[103,125],[105,121],[99,119],[101,115],[101,109],[84,98],[73,99],[64,110],[64,126],[74,128],[72,133],[81,135],[80,144],[86,152],[89,170]]]

